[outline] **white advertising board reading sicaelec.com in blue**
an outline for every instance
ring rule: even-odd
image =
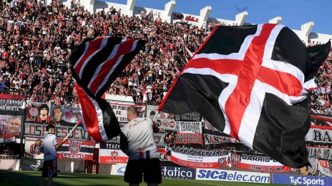
[[[270,183],[269,173],[218,169],[196,169],[197,180]]]

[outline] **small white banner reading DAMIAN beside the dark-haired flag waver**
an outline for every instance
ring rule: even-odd
[[[41,143],[43,139],[41,138],[25,138],[24,144],[24,156],[33,159],[44,159],[44,153],[40,151]]]

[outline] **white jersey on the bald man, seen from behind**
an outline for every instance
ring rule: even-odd
[[[135,118],[122,128],[127,138],[129,159],[159,158],[150,118]]]

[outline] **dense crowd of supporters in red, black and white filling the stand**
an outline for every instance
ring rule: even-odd
[[[158,104],[191,53],[221,23],[197,27],[181,20],[167,23],[143,12],[129,17],[113,7],[88,12],[73,0],[70,7],[56,0],[4,0],[0,4],[0,83],[2,91],[29,92],[33,101],[50,96],[77,96],[68,61],[72,47],[86,38],[118,36],[149,41],[106,93],[132,96],[135,102]],[[236,25],[233,25],[236,26]],[[308,46],[318,45],[311,42]],[[331,58],[331,57],[330,57]],[[316,76],[331,88],[331,59]],[[332,94],[312,94],[318,113],[332,114]],[[77,99],[66,100],[77,105]]]

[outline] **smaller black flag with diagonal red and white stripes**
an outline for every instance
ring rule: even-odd
[[[74,47],[70,61],[82,125],[94,140],[104,142],[120,134],[111,106],[101,97],[145,44],[142,40],[101,37]]]

